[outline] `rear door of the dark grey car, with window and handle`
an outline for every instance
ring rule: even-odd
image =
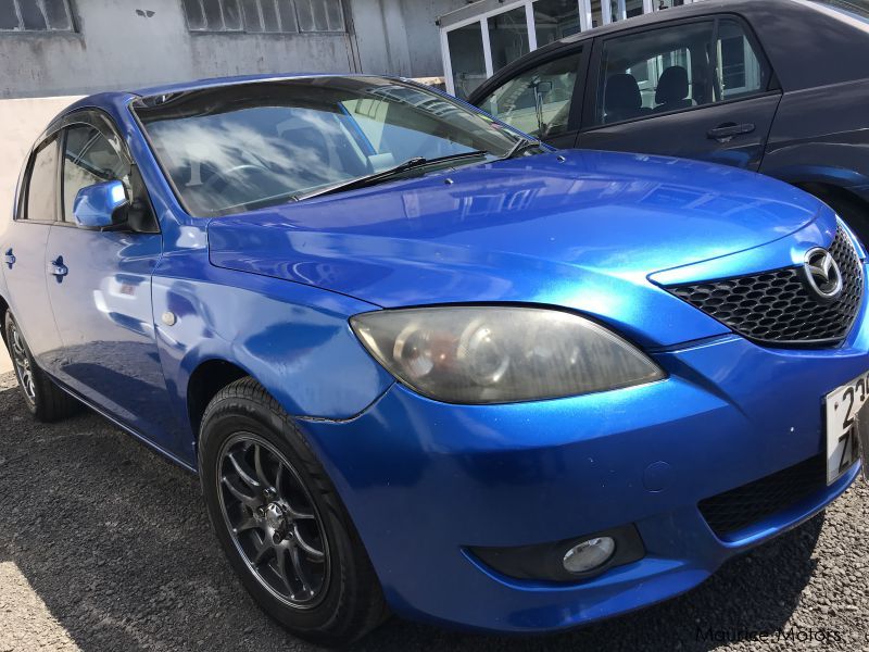
[[[595,40],[577,146],[757,170],[781,91],[735,15]]]

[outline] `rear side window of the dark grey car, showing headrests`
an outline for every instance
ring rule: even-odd
[[[740,21],[722,18],[604,42],[595,124],[680,111],[763,92],[770,72]],[[713,41],[715,40],[715,47]]]

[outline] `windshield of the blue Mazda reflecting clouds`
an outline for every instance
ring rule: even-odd
[[[148,98],[134,111],[198,216],[294,201],[413,159],[480,163],[520,140],[454,100],[379,77],[238,84]],[[480,158],[458,156],[474,151]]]

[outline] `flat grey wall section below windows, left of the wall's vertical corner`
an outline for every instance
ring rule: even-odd
[[[354,68],[349,35],[190,34],[180,0],[75,0],[72,7],[78,33],[0,34],[0,97]]]

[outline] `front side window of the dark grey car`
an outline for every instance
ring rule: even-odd
[[[475,93],[476,104],[512,127],[554,147],[572,147],[579,130],[588,46],[561,50]]]

